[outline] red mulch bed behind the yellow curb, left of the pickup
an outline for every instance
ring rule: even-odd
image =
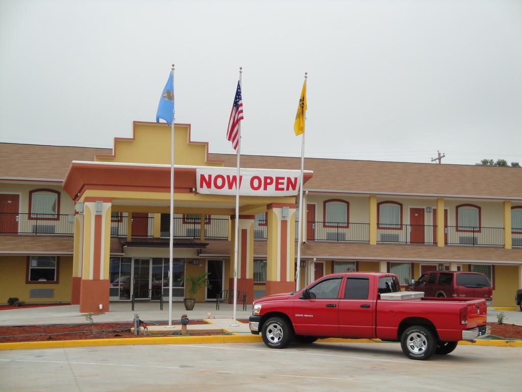
[[[167,322],[157,322],[152,325],[167,325]],[[203,320],[191,320],[189,325],[203,325],[207,324]],[[179,322],[173,322],[172,325],[180,325]],[[90,324],[73,324],[73,325],[30,325],[30,326],[16,326],[4,327],[0,326],[0,343],[7,342],[35,342],[45,340],[84,340],[84,339],[114,339],[114,338],[144,338],[151,335],[134,335],[131,332],[133,322],[106,322]],[[111,331],[106,331],[110,329]],[[105,331],[102,331],[105,330]],[[61,333],[60,335],[53,335],[54,333]],[[40,333],[41,335],[32,335]],[[173,333],[151,332],[154,336],[173,336]],[[32,336],[23,336],[32,335]],[[216,335],[215,333],[201,332],[191,333],[191,336],[206,336]],[[2,338],[10,336],[9,338]]]

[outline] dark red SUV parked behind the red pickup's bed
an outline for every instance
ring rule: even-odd
[[[423,291],[425,297],[484,298],[492,304],[493,289],[486,275],[465,271],[429,271],[406,286],[406,291]]]

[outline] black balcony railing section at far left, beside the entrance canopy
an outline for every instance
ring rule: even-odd
[[[0,233],[73,235],[73,214],[0,213]]]

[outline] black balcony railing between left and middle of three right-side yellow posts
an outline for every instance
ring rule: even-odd
[[[437,226],[379,224],[377,243],[434,244]]]

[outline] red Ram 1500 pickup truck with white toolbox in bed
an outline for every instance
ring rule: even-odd
[[[422,296],[401,292],[394,274],[336,273],[299,292],[257,299],[250,330],[274,349],[293,340],[313,343],[328,337],[400,341],[402,351],[415,360],[448,354],[459,340],[490,334],[484,299]]]

